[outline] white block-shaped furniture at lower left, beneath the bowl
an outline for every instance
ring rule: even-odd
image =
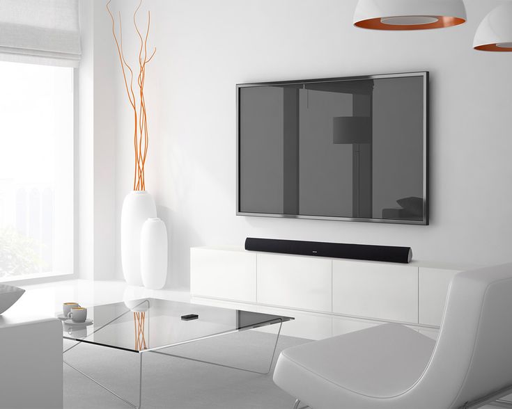
[[[59,319],[0,316],[0,408],[63,407]]]

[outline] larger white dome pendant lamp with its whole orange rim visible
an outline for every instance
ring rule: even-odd
[[[354,25],[373,30],[426,30],[466,21],[463,0],[359,0]]]

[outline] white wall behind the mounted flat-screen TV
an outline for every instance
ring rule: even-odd
[[[355,29],[356,2],[144,2],[157,47],[146,79],[146,188],[170,232],[168,286],[188,287],[191,246],[246,236],[411,246],[415,259],[447,262],[512,258],[512,54],[472,50],[476,26],[499,2],[467,0],[467,24],[405,33]],[[135,5],[116,3],[127,50],[137,45]],[[416,70],[431,73],[429,226],[235,216],[235,83]],[[118,232],[132,188],[132,118],[118,67],[104,86],[116,93]]]

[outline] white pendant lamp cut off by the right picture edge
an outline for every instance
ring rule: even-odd
[[[512,51],[512,3],[504,3],[486,15],[474,35],[473,48]]]

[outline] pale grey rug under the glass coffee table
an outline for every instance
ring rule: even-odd
[[[187,351],[169,348],[169,353],[266,370],[274,339],[270,334],[247,331],[218,337],[213,342],[208,339],[193,347],[191,344],[185,348]],[[305,341],[280,337],[278,348],[280,351],[302,342]],[[134,353],[87,344],[65,354],[71,364],[134,403],[138,400],[138,358]],[[293,396],[274,385],[272,374],[254,374],[151,353],[143,355],[142,408],[291,409],[294,401]],[[66,365],[64,406],[129,409],[126,403]]]

